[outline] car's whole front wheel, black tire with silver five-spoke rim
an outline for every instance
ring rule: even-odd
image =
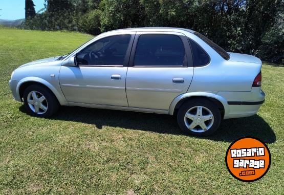
[[[33,116],[50,117],[58,110],[59,103],[54,94],[45,86],[33,84],[24,92],[27,112]]]

